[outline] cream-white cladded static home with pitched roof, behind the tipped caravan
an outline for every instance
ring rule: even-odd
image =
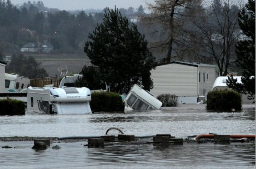
[[[197,103],[205,99],[216,79],[215,65],[175,61],[156,66],[151,70],[156,97],[160,94],[175,94],[179,103]]]

